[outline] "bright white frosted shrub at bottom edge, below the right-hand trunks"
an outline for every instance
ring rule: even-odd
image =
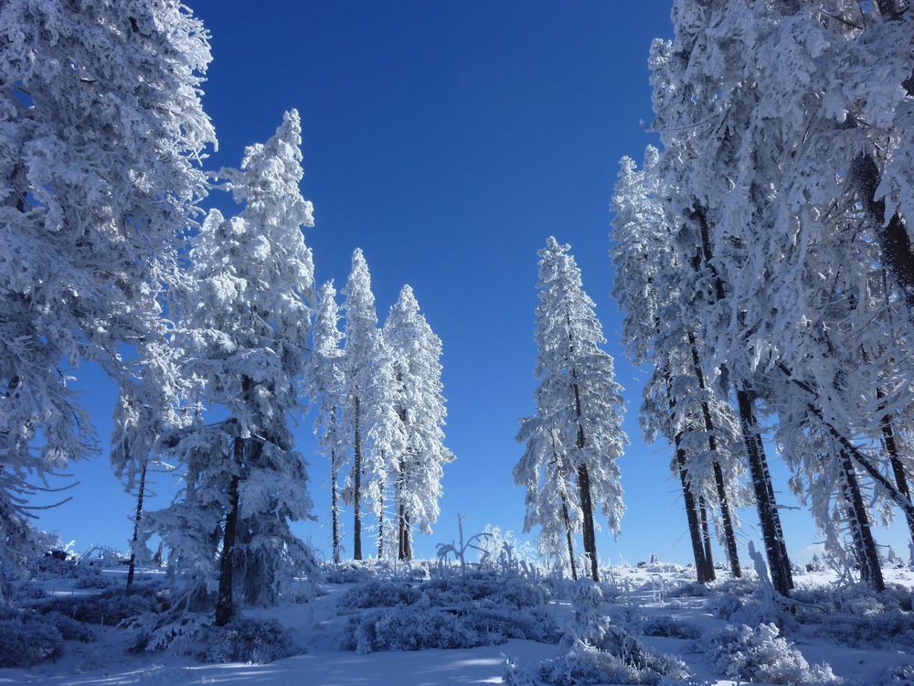
[[[802,653],[779,634],[774,624],[762,624],[758,629],[745,625],[726,627],[711,633],[702,645],[710,663],[730,679],[789,686],[840,683],[831,667],[811,667]]]

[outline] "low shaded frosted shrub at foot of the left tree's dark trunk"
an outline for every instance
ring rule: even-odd
[[[205,662],[264,664],[302,652],[274,619],[235,617],[225,627],[206,627],[197,639],[197,659]]]

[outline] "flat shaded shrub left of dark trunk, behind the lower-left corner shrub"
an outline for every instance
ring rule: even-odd
[[[167,594],[153,586],[112,589],[98,595],[59,595],[37,606],[42,614],[56,612],[85,624],[113,626],[124,620],[167,609]]]

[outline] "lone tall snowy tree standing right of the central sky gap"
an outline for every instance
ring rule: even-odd
[[[600,348],[606,342],[600,320],[569,251],[551,236],[539,251],[537,419],[555,428],[574,469],[584,552],[597,581],[594,509],[608,518],[610,531],[619,531],[624,506],[616,461],[628,438],[622,431],[622,387],[611,356]]]

